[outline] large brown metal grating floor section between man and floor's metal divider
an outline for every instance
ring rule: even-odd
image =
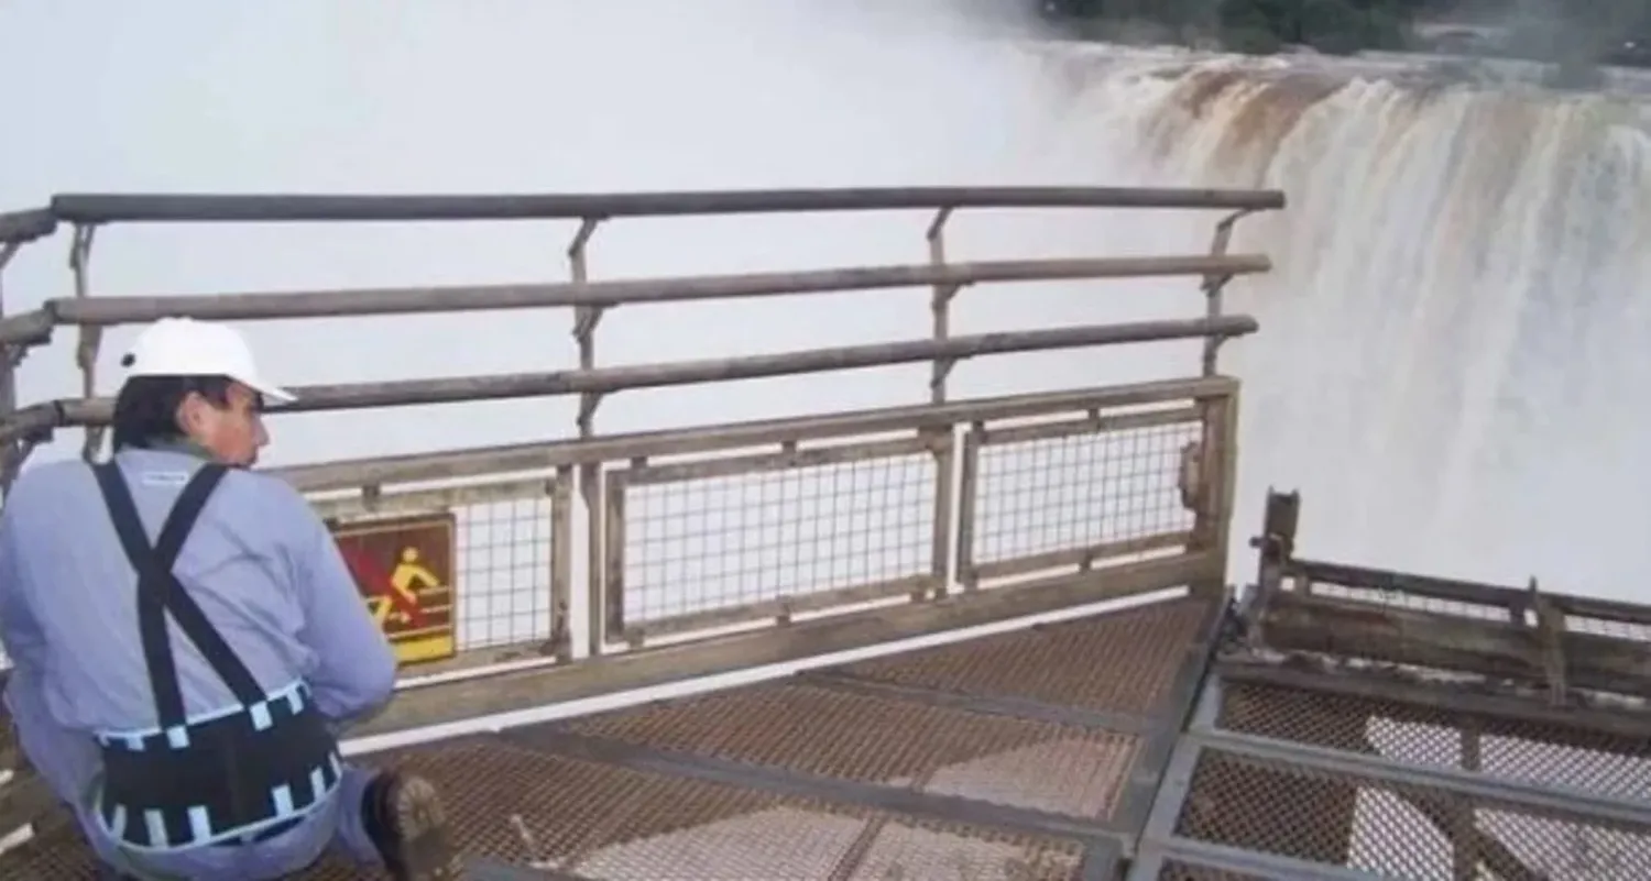
[[[560,878],[1111,878],[1213,622],[1169,601],[365,761],[441,785],[469,856]],[[68,830],[0,858],[5,878],[89,873]]]

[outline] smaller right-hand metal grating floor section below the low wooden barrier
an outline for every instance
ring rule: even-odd
[[[1651,878],[1651,737],[1243,683],[1209,711],[1162,830],[1182,845],[1314,878]]]

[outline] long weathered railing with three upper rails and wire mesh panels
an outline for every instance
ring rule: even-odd
[[[444,612],[424,630],[456,629],[457,655],[409,673],[497,671],[502,662],[522,658],[568,665],[576,657],[573,582],[581,564],[586,617],[578,629],[588,655],[690,640],[718,652],[723,667],[750,663],[769,648],[748,642],[750,652],[735,652],[718,642],[723,637],[707,635],[713,629],[778,624],[766,632],[784,632],[794,645],[830,648],[829,640],[801,640],[807,632],[804,619],[844,617],[868,602],[905,597],[906,605],[920,609],[916,617],[933,609],[933,620],[913,627],[933,629],[954,624],[953,609],[971,596],[997,597],[972,609],[991,607],[1002,615],[1195,581],[1218,584],[1230,518],[1237,384],[1217,375],[1217,350],[1223,340],[1256,330],[1253,318],[1223,313],[1222,289],[1235,276],[1270,267],[1265,256],[1227,254],[1227,246],[1240,216],[1280,206],[1283,195],[1276,191],[1109,188],[58,196],[46,210],[0,216],[5,256],[59,224],[71,226],[76,292],[0,318],[0,346],[7,353],[0,368],[0,478],[10,485],[30,450],[64,427],[84,429],[83,455],[97,455],[111,404],[96,394],[94,365],[102,328],[111,325],[167,315],[263,320],[571,307],[578,370],[299,388],[299,401],[277,409],[580,396],[576,431],[566,439],[319,462],[279,472],[337,525],[342,543],[365,543],[357,548],[362,554],[381,553],[368,546],[370,538],[360,538],[375,530],[433,530],[429,535],[446,536],[447,549],[424,551],[421,577],[439,581],[436,569],[442,569],[456,584],[444,586]],[[1209,254],[948,262],[946,221],[959,210],[982,208],[1205,208],[1228,216],[1217,224]],[[584,266],[591,234],[613,218],[873,210],[931,211],[931,261],[604,282],[589,280]],[[89,280],[94,233],[117,223],[550,218],[580,221],[568,246],[568,282],[97,297]],[[949,330],[949,307],[963,287],[1167,276],[1200,279],[1204,315],[984,335]],[[930,290],[928,338],[596,366],[596,328],[604,310],[616,305],[898,287]],[[18,406],[12,370],[59,327],[79,332],[83,394]],[[1182,338],[1205,340],[1197,371],[1202,376],[948,401],[948,375],[961,360]],[[598,404],[617,391],[900,363],[931,365],[928,404],[629,436],[594,431]],[[575,511],[575,490],[583,516]],[[583,549],[575,546],[581,525]],[[1012,592],[997,589],[1004,584],[1014,584]],[[398,614],[390,597],[375,609]],[[862,612],[862,619],[849,612],[849,620],[898,617],[887,609]],[[867,638],[870,632],[840,637],[859,643]],[[692,667],[674,665],[675,671]],[[416,703],[411,698],[424,691],[398,704]],[[444,711],[464,704],[442,703]]]

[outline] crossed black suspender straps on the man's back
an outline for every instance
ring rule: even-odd
[[[259,688],[258,680],[253,678],[253,673],[225,642],[223,634],[213,627],[195,597],[172,572],[178,553],[183,551],[183,541],[188,539],[206,500],[228,469],[206,464],[190,477],[183,492],[178,493],[172,513],[167,515],[154,546],[149,544],[144,521],[139,518],[125,478],[121,477],[121,469],[111,460],[94,465],[92,470],[97,475],[99,488],[102,488],[104,503],[109,506],[109,518],[121,536],[121,546],[132,568],[137,569],[139,635],[144,645],[144,663],[149,667],[149,683],[155,691],[155,713],[160,728],[177,728],[187,721],[178,668],[172,657],[172,640],[167,637],[167,612],[243,706],[249,708],[263,701],[264,690]]]

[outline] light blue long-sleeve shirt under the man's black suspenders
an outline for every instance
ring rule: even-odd
[[[150,543],[201,459],[122,450],[116,460]],[[378,709],[395,655],[327,526],[289,483],[231,470],[173,572],[264,690],[305,680],[343,723]],[[228,686],[167,619],[188,716],[234,706]],[[83,462],[28,469],[0,510],[0,643],[8,703],[41,706],[66,733],[157,724],[137,624],[137,574]]]

